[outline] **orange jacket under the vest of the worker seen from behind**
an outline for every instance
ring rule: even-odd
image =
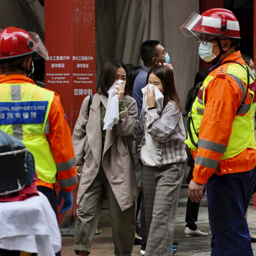
[[[27,84],[35,85],[34,81],[23,75],[9,75],[0,79],[1,84]],[[76,161],[73,150],[72,135],[68,122],[65,119],[60,96],[56,93],[53,96],[51,108],[48,114],[49,133],[45,133],[49,146],[51,147],[53,158],[56,163],[56,179],[59,180],[60,189],[70,192],[77,187]],[[31,152],[33,154],[33,152]],[[44,159],[47,161],[47,159]],[[39,180],[36,185],[53,188],[53,184]]]

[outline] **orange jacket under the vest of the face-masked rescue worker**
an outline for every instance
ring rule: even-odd
[[[236,61],[245,65],[240,51],[230,54],[222,63],[226,61]],[[224,146],[228,146],[229,137],[232,132],[232,123],[236,117],[237,109],[243,100],[240,86],[231,76],[225,73],[229,64],[224,64],[221,66],[222,68],[216,68],[209,74],[213,79],[210,80],[208,86],[205,88],[206,103],[199,131],[199,139],[202,141],[210,141]],[[246,90],[247,85],[244,82],[243,84]],[[252,98],[248,92],[245,104],[247,105],[251,102]],[[195,159],[192,180],[200,184],[206,184],[209,177],[213,174],[225,175],[246,172],[256,166],[256,150],[254,148],[247,147],[240,154],[225,160],[221,159],[223,152],[220,153],[202,148],[200,147],[200,143],[197,152],[191,151]],[[196,155],[199,157],[196,158]],[[208,159],[209,162],[219,162],[219,168],[212,169],[201,166],[199,164],[200,161],[197,161],[199,158]]]

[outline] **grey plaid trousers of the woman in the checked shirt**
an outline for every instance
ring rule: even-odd
[[[171,256],[176,210],[184,163],[142,166],[147,246],[146,256]]]

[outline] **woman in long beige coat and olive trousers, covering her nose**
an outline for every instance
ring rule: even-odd
[[[102,130],[108,90],[118,83],[119,121],[112,130]],[[120,60],[108,60],[101,70],[88,112],[90,96],[82,102],[73,131],[77,165],[83,165],[77,195],[75,245],[77,255],[89,255],[100,218],[102,203],[108,199],[115,255],[131,255],[135,234],[134,200],[138,196],[133,164],[133,131],[137,104],[126,95],[126,67]],[[118,87],[118,86],[117,86]],[[89,117],[88,117],[89,114]]]

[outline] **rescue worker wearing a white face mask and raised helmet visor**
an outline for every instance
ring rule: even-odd
[[[192,13],[180,25],[212,65],[188,115],[187,144],[195,158],[189,197],[206,184],[212,255],[253,255],[245,213],[256,179],[254,75],[236,51],[240,27],[226,9]]]

